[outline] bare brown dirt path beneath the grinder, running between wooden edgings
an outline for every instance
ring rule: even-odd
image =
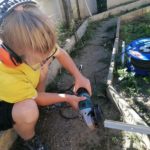
[[[105,94],[106,79],[116,31],[116,18],[105,20],[95,29],[93,38],[79,51],[74,59],[79,66],[83,65],[83,74],[87,76],[93,87],[92,100],[101,105],[106,119],[119,120],[120,114]],[[57,86],[61,89],[72,84],[67,73],[61,75]],[[59,108],[40,108],[40,119],[37,133],[51,150],[121,150],[123,148],[122,133],[116,130],[99,127],[91,131],[81,118],[65,119],[60,116]],[[131,148],[132,149],[132,148]],[[16,141],[11,150],[22,150]]]

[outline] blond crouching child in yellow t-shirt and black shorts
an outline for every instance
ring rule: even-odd
[[[91,86],[56,44],[48,17],[32,0],[0,2],[0,130],[13,127],[29,150],[46,150],[35,134],[39,106],[67,102],[78,109],[85,97],[46,93],[48,66],[58,59],[75,79],[74,92]],[[1,148],[0,148],[1,149]]]

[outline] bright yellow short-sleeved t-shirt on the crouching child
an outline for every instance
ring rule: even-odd
[[[34,71],[25,63],[10,68],[0,61],[0,100],[16,103],[37,96],[40,70]]]

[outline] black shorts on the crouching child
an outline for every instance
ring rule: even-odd
[[[12,108],[14,104],[0,101],[0,131],[13,127]]]

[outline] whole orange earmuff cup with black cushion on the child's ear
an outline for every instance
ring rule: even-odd
[[[0,61],[11,68],[14,68],[22,63],[21,57],[4,43],[0,45]]]

